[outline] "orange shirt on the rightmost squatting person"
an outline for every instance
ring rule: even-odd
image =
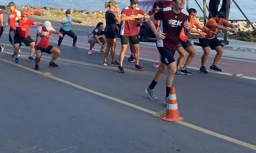
[[[226,26],[228,24],[228,21],[225,20],[225,19],[222,19],[221,22],[217,23],[216,20],[215,20],[215,17],[212,17],[210,18],[207,23],[205,24],[205,27],[208,28],[210,31],[212,32],[216,32],[218,33],[218,29],[215,28],[214,24],[218,24],[218,25],[224,25]],[[212,38],[215,38],[215,35],[210,35],[209,33],[206,33],[207,35],[205,36],[206,39],[212,39]],[[199,38],[203,38],[202,36],[199,36]]]

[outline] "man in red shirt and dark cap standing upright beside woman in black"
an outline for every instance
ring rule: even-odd
[[[130,0],[130,6],[126,7],[122,10],[121,12],[121,20],[122,20],[122,25],[121,25],[121,44],[122,44],[122,49],[120,53],[120,66],[118,66],[118,72],[123,73],[123,59],[124,59],[124,54],[127,49],[127,44],[129,39],[131,39],[131,42],[133,44],[133,49],[135,53],[135,70],[143,70],[143,68],[139,65],[139,58],[140,58],[140,53],[139,53],[139,38],[137,36],[137,23],[138,20],[142,17],[148,19],[150,16],[147,15],[143,10],[137,8],[139,4],[138,0]]]

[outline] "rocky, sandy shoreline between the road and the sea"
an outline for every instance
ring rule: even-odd
[[[37,6],[17,6],[17,10],[27,10],[29,8],[30,11],[37,11]],[[56,20],[59,21],[63,16],[65,16],[65,12],[68,9],[57,9],[54,7],[40,7],[40,11],[42,12],[42,16],[34,15],[34,18],[38,19],[48,19],[48,20]],[[79,10],[79,9],[69,9],[72,11],[72,15],[74,18],[79,19],[82,21],[82,23],[74,23],[79,25],[87,25],[87,26],[95,26],[98,22],[103,22],[105,24],[105,12],[103,11],[89,11],[89,10]],[[8,10],[5,9],[4,12],[7,12]],[[198,16],[197,19],[200,21],[201,24],[203,24],[203,17]],[[236,25],[237,29],[240,31],[237,35],[233,35],[232,33],[228,32],[228,37],[230,39],[237,39],[237,40],[244,40],[244,41],[253,41],[256,42],[256,36],[254,34],[247,34],[247,33],[254,33],[253,29],[246,21],[237,21],[237,22],[231,22],[232,24]],[[252,23],[253,26],[256,28],[256,22]],[[243,36],[240,35],[240,33],[243,33]],[[223,33],[219,34],[220,37],[223,36]],[[240,38],[240,37],[247,37],[247,38]],[[253,37],[250,39],[250,37]]]

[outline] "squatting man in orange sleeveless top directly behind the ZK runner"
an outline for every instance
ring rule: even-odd
[[[196,16],[197,16],[196,9],[190,8],[190,9],[188,9],[188,13],[189,13],[188,17],[189,17],[191,33],[197,33],[201,37],[205,37],[206,33],[204,33],[204,32],[207,32],[210,35],[216,35],[215,32],[210,31],[208,28],[206,28],[202,24],[200,24],[200,22],[198,20],[196,20]],[[194,25],[198,29],[201,29],[203,32],[192,29]],[[186,56],[185,50],[187,51],[187,53],[189,55],[187,57],[186,63],[180,69],[180,65]],[[179,53],[180,57],[177,60],[177,71],[175,73],[175,76],[181,77],[181,74],[192,75],[193,73],[187,70],[187,66],[193,61],[193,59],[196,55],[196,51],[195,51],[193,45],[189,42],[188,36],[184,34],[184,28],[181,30],[181,33],[180,33],[180,38],[179,38],[179,42],[177,45],[177,52]]]

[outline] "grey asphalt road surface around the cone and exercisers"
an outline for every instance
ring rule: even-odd
[[[156,86],[158,101],[145,94],[154,62],[141,60],[145,70],[135,71],[135,63],[125,59],[125,73],[119,74],[117,67],[102,66],[103,54],[72,49],[65,37],[59,67],[49,67],[51,56],[43,54],[35,72],[34,62],[27,61],[29,47],[21,48],[20,64],[14,64],[7,38],[6,33],[1,38],[6,49],[0,57],[0,152],[256,151],[255,80],[193,69],[193,75],[175,78],[183,121],[240,140],[233,143],[138,109],[165,111],[166,75]],[[40,72],[53,77],[40,77]],[[117,103],[121,100],[139,107]]]

